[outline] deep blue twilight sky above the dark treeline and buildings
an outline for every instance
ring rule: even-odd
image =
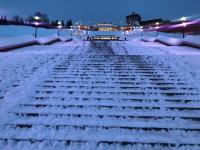
[[[0,15],[26,18],[36,11],[47,13],[50,19],[120,23],[133,11],[140,13],[143,20],[199,17],[200,0],[0,0]]]

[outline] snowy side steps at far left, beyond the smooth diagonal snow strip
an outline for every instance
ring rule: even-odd
[[[16,57],[19,58],[16,60]],[[10,54],[0,60],[0,101],[56,55]]]

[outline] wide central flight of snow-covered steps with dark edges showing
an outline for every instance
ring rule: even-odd
[[[9,110],[0,148],[200,147],[199,89],[167,61],[59,55],[50,70]]]

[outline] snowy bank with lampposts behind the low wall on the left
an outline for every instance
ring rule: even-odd
[[[46,45],[58,41],[69,41],[72,39],[72,31],[68,29],[38,29],[37,38],[34,37],[35,28],[26,26],[0,26],[0,51],[8,51],[17,47],[30,45]]]

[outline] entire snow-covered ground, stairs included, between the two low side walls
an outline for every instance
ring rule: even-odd
[[[200,50],[129,41],[0,53],[0,149],[199,150]]]

